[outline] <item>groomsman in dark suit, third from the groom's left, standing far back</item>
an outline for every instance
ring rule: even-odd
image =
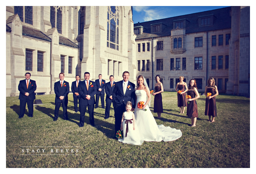
[[[95,80],[97,85],[97,92],[96,92],[96,104],[95,108],[99,107],[99,98],[101,98],[101,107],[105,109],[104,104],[104,96],[105,96],[105,80],[102,79],[102,75],[99,74],[99,79]]]

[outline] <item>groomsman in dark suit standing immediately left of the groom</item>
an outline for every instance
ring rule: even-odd
[[[112,75],[109,76],[109,80],[110,80],[110,82],[106,83],[106,85],[105,85],[106,109],[105,109],[105,118],[104,119],[109,118],[109,111],[110,111],[111,103],[113,103],[113,107],[114,107],[114,102],[112,100],[112,92],[114,90],[114,85],[116,85],[116,82],[114,82],[114,76],[112,76]]]

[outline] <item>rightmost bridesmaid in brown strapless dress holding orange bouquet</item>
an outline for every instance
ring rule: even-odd
[[[217,86],[215,85],[215,80],[213,77],[208,79],[208,86],[205,86],[204,95],[206,96],[205,100],[205,112],[204,115],[209,116],[209,122],[214,122],[214,118],[217,116],[217,107],[215,97],[219,95]],[[210,92],[211,96],[207,97],[207,93]],[[212,121],[211,121],[212,116]]]

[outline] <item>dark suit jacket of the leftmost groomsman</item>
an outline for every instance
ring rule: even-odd
[[[36,95],[35,95],[36,81],[35,80],[30,79],[28,88],[27,88],[26,79],[20,80],[20,83],[18,85],[18,90],[20,91],[20,95],[19,95],[20,100],[26,100],[27,98],[29,98],[29,100],[35,100],[36,99]],[[29,93],[29,96],[25,95],[26,92]]]

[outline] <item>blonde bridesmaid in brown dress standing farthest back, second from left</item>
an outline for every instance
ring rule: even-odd
[[[176,85],[176,91],[178,92],[179,90],[181,90],[181,95],[179,93],[177,93],[177,97],[178,97],[178,107],[180,107],[180,113],[184,114],[185,111],[185,107],[187,106],[187,100],[186,100],[186,91],[188,91],[188,87],[187,87],[187,83],[183,82],[184,77],[180,76],[180,82],[177,83]],[[186,90],[184,91],[184,89],[186,88]],[[183,107],[183,109],[182,109]]]

